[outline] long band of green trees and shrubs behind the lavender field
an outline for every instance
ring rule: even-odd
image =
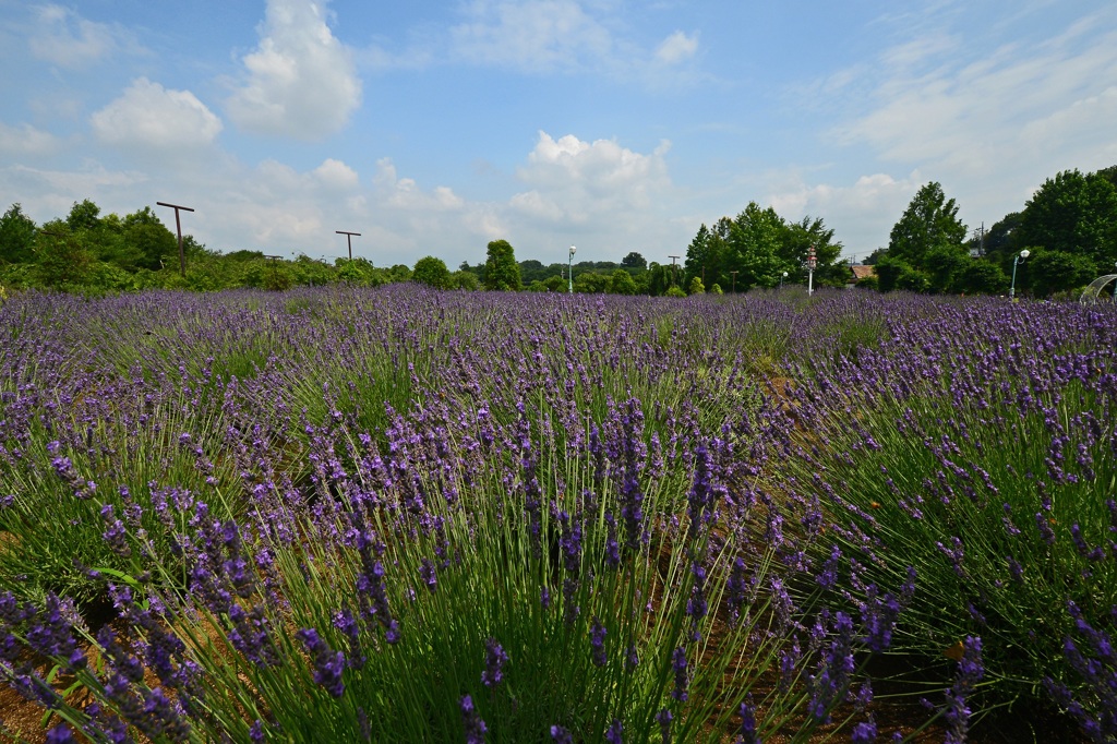
[[[876,276],[859,284],[882,292],[1005,294],[1015,265],[1021,269],[1018,292],[1046,297],[1117,270],[1117,165],[1086,174],[1058,173],[1022,211],[1006,214],[987,231],[971,233],[957,212],[957,203],[939,183],[924,185],[892,228],[888,246],[866,260]],[[617,263],[544,265],[518,261],[507,240],[494,240],[484,263],[462,261],[451,271],[435,256],[419,259],[414,267],[378,267],[363,258],[331,264],[306,255],[221,252],[184,236],[183,274],[178,239],[150,207],[124,217],[103,216],[86,199],[75,202],[65,218],[41,226],[18,203],[0,217],[0,287],[96,293],[418,282],[442,289],[720,294],[805,284],[812,249],[815,285],[850,282],[849,266],[841,259],[843,246],[821,218],[791,221],[754,201],[736,217],[701,225],[685,256],[672,257],[682,258],[681,264],[649,263],[631,250]],[[1021,263],[1024,249],[1029,255]]]

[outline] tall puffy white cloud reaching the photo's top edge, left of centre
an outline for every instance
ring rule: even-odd
[[[244,58],[246,74],[227,102],[237,126],[317,140],[349,122],[361,104],[361,80],[323,10],[308,0],[268,0],[259,47]]]

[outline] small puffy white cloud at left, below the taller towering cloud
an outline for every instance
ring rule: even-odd
[[[141,77],[89,118],[97,140],[108,145],[182,150],[209,145],[221,120],[189,90],[170,90]]]

